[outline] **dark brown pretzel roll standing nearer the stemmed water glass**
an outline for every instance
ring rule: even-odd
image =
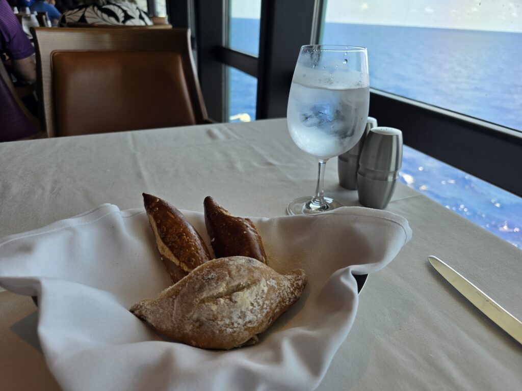
[[[267,263],[261,235],[250,219],[232,216],[212,197],[206,197],[203,204],[205,225],[216,258],[243,255]]]

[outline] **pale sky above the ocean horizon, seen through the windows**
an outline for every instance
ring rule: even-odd
[[[230,0],[232,16],[259,18],[261,0]],[[522,0],[327,0],[327,22],[522,32]]]

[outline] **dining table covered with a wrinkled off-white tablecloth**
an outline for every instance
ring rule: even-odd
[[[142,193],[203,212],[212,196],[238,216],[286,215],[314,193],[317,161],[293,142],[284,118],[133,130],[0,144],[0,238],[98,205],[143,207]],[[339,186],[325,192],[361,206]],[[412,237],[359,294],[353,326],[319,390],[522,389],[522,346],[439,275],[435,255],[522,319],[522,251],[444,205],[398,184],[386,211]],[[30,296],[0,287],[0,389],[60,389],[38,338]]]

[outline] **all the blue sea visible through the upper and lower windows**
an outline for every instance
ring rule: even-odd
[[[373,88],[522,131],[522,33],[325,23],[322,43],[367,47]],[[257,55],[259,19],[233,18],[229,46]],[[231,121],[254,120],[257,79],[229,77]],[[522,198],[408,146],[400,180],[522,249]]]

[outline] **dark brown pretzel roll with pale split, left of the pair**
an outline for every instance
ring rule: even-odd
[[[174,284],[210,260],[205,242],[179,210],[147,193],[143,193],[143,202],[161,260]]]

